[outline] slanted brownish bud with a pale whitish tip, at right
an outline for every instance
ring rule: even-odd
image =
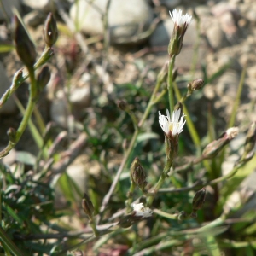
[[[203,150],[202,155],[207,158],[213,158],[218,154],[220,150],[224,148],[225,145],[230,143],[230,141],[237,136],[239,133],[238,127],[231,127],[218,138],[218,140],[213,141],[208,144]]]

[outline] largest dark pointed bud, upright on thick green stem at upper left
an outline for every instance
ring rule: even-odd
[[[36,49],[16,15],[13,20],[13,35],[15,48],[20,57],[20,61],[22,61],[26,67],[32,68],[36,62]]]

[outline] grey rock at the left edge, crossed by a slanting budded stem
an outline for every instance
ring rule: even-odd
[[[9,85],[11,82],[6,75],[5,68],[3,67],[3,63],[0,62],[0,98],[9,89]],[[14,99],[10,96],[9,100],[3,104],[3,107],[0,108],[0,114],[11,114],[15,113],[16,105]]]

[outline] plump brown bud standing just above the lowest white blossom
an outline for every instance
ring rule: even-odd
[[[131,164],[131,179],[138,187],[144,188],[146,183],[146,172],[139,159],[136,157]]]

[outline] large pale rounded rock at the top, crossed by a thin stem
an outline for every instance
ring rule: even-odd
[[[89,35],[103,35],[102,14],[108,0],[95,0],[93,4],[79,0],[73,3],[70,16],[79,26],[79,30]],[[110,42],[129,44],[135,42],[132,37],[145,32],[153,20],[153,11],[145,0],[112,0],[108,12]]]

